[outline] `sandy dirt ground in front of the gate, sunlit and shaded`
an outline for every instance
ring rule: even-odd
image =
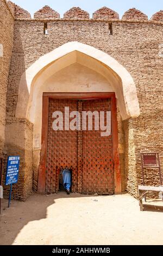
[[[139,203],[128,194],[65,192],[26,202],[3,199],[0,245],[163,245],[162,202]]]

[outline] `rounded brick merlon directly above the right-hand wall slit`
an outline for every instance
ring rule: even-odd
[[[111,10],[108,7],[102,7],[101,9],[93,13],[93,19],[95,20],[118,20],[119,15],[116,11]]]

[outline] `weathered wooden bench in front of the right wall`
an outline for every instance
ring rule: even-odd
[[[142,199],[146,197],[146,194],[149,192],[161,192],[162,193],[162,202],[163,202],[163,186],[154,187],[154,186],[138,186],[139,193],[139,205],[140,210],[143,211]]]

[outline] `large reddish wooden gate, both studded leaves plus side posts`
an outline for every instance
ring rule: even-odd
[[[59,94],[59,97],[47,94],[43,97],[44,120],[42,120],[38,192],[48,194],[58,192],[59,171],[65,167],[72,169],[72,192],[84,194],[121,192],[115,95],[112,93],[109,97],[107,93],[101,94],[102,99],[92,95],[89,97],[88,94],[79,97],[75,94],[72,94],[73,96]],[[110,136],[102,137],[102,131],[95,129],[65,130],[65,123],[64,130],[54,131],[53,112],[60,111],[64,117],[65,107],[69,107],[70,112],[79,111],[80,114],[82,111],[98,113],[111,111]],[[93,128],[94,125],[93,116]]]

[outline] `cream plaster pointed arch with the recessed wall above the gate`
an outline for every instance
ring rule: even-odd
[[[68,42],[40,57],[24,72],[19,86],[16,117],[26,118],[34,124],[34,172],[38,172],[40,164],[43,93],[103,92],[115,93],[122,120],[140,115],[133,78],[117,60],[95,47]],[[119,165],[118,154],[116,162]]]

